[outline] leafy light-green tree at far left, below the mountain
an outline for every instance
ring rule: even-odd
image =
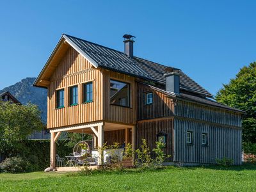
[[[0,102],[0,152],[6,156],[19,151],[20,141],[43,127],[41,112],[36,105]]]

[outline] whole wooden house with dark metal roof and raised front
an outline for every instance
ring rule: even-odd
[[[134,56],[134,36],[124,52],[62,35],[34,86],[47,88],[51,167],[63,131],[93,134],[103,143],[150,148],[163,141],[174,163],[208,164],[228,157],[241,164],[241,115],[179,68]],[[100,162],[99,162],[100,163]]]

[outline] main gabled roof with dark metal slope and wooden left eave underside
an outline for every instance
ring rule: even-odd
[[[163,74],[166,73],[164,72],[164,69],[168,66],[144,60],[136,56],[131,58],[124,52],[116,51],[115,49],[88,42],[81,38],[63,34],[58,45],[45,64],[45,67],[36,79],[34,86],[47,87],[49,75],[47,76],[45,74],[46,72],[51,74],[54,68],[56,68],[58,65],[60,58],[58,58],[56,55],[60,55],[60,52],[65,52],[65,50],[67,50],[67,45],[64,44],[65,42],[71,45],[74,49],[76,49],[77,52],[84,56],[84,58],[90,61],[95,68],[106,68],[116,72],[128,74],[130,76],[140,77],[142,79],[165,84],[165,77]],[[193,92],[202,95],[203,97],[212,97],[211,93],[207,92],[207,90],[202,88],[202,86],[184,74],[184,72],[177,68],[174,68],[174,70],[180,74],[181,90]]]

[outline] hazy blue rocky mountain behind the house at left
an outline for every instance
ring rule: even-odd
[[[9,91],[16,97],[22,104],[31,102],[36,104],[40,111],[42,111],[42,120],[47,122],[47,90],[44,88],[37,88],[32,86],[35,77],[27,77],[20,82],[8,86],[0,91],[0,94]]]

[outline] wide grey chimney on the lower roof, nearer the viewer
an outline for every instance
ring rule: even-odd
[[[180,75],[177,72],[168,72],[166,77],[166,91],[180,93]]]

